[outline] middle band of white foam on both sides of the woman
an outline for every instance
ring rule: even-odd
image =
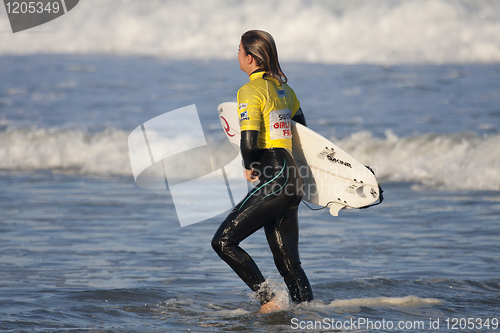
[[[0,169],[132,175],[128,135],[122,130],[6,130],[0,132]],[[500,135],[423,134],[399,138],[389,131],[385,138],[379,138],[358,132],[333,141],[372,166],[382,182],[414,182],[450,190],[500,190]],[[173,139],[171,144],[179,141]],[[241,176],[226,171],[230,178]]]

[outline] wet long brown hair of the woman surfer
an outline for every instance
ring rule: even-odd
[[[245,53],[250,54],[257,66],[264,69],[264,78],[271,77],[280,84],[288,81],[278,62],[278,50],[271,34],[262,30],[249,30],[241,36],[241,44]]]

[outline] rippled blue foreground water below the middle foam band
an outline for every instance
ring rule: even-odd
[[[36,172],[0,181],[9,185],[1,200],[4,330],[296,331],[293,318],[439,318],[445,330],[447,318],[498,316],[498,192],[401,183],[387,184],[386,201],[370,211],[333,218],[301,206],[301,259],[316,300],[255,315],[257,302],[210,247],[222,216],[180,228],[168,195],[129,177]],[[283,290],[263,233],[243,247]]]

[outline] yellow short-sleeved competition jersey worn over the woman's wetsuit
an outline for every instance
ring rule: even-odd
[[[292,150],[291,119],[300,108],[295,92],[287,84],[264,72],[250,75],[250,82],[238,90],[238,115],[242,131],[259,131],[257,147]]]

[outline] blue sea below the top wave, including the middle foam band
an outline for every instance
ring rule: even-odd
[[[326,318],[457,331],[452,318],[480,318],[489,330],[465,331],[493,330],[499,65],[284,67],[309,127],[376,168],[386,199],[338,218],[301,205],[316,300],[255,315],[210,246],[224,214],[181,228],[127,155],[135,127],[193,103],[207,139],[223,138],[216,107],[246,80],[234,61],[0,57],[0,329],[295,332]],[[242,246],[286,303],[263,231]]]

